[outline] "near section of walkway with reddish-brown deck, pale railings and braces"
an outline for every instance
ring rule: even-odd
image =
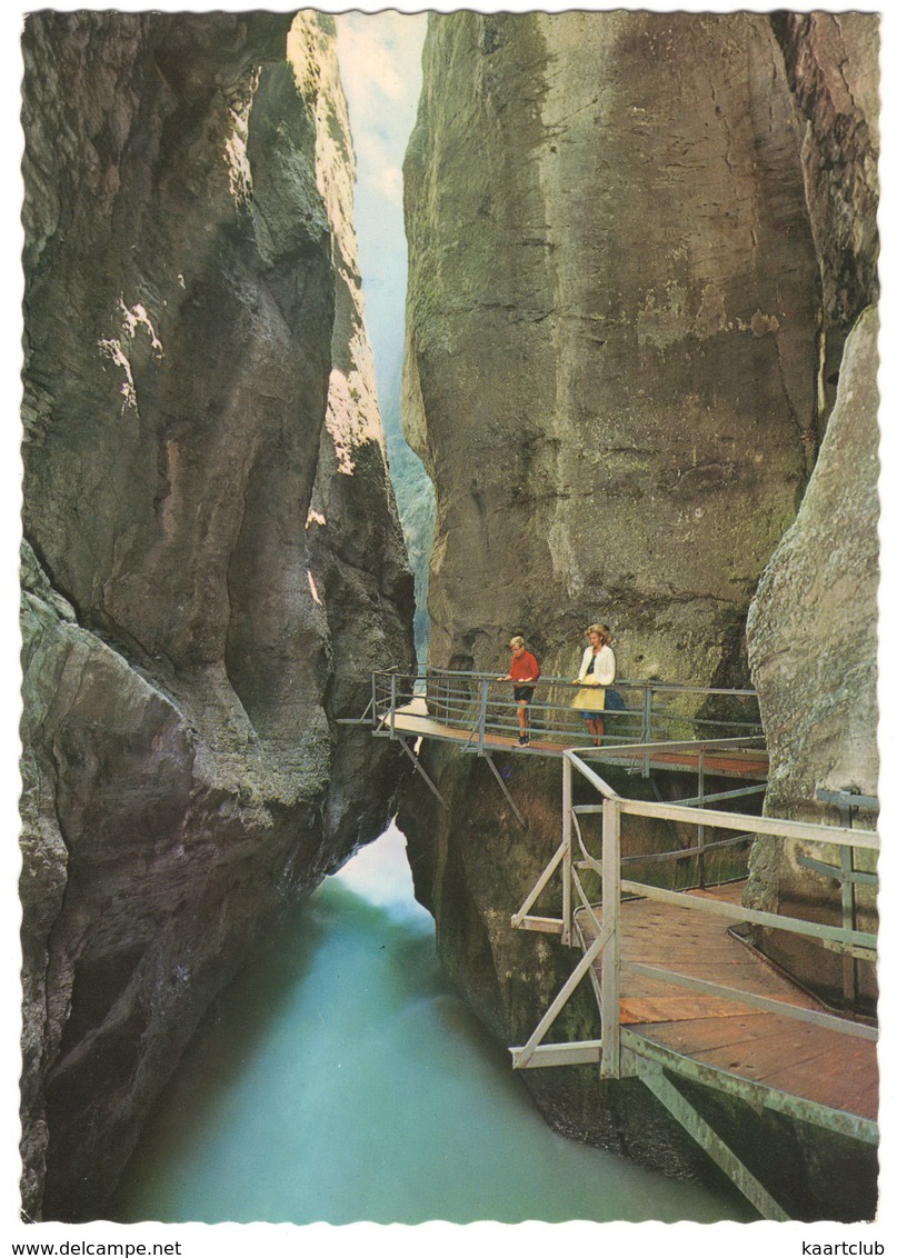
[[[877,800],[842,793],[847,819],[835,827],[721,811],[694,806],[696,800],[627,799],[599,776],[594,755],[590,750],[586,761],[582,754],[565,754],[561,844],[511,918],[520,930],[556,933],[581,954],[530,1039],[511,1049],[513,1066],[594,1063],[604,1079],[638,1078],[764,1218],[785,1219],[784,1208],[761,1183],[765,1167],[745,1165],[698,1112],[682,1083],[702,1084],[733,1098],[736,1106],[745,1105],[737,1111],[744,1116],[738,1127],[752,1121],[751,1115],[772,1111],[822,1137],[834,1132],[858,1142],[858,1149],[874,1147],[878,1032],[871,1019],[850,1011],[850,1001],[858,990],[857,967],[874,965],[877,949],[876,933],[857,928],[853,892],[876,887],[874,855],[881,840],[874,830],[854,829],[852,816],[854,810],[876,809]],[[575,775],[594,788],[599,803],[581,801],[581,785],[574,791]],[[600,815],[600,855],[590,852],[593,840],[585,840],[581,819],[586,814]],[[666,854],[625,854],[624,823],[632,818],[693,827],[697,845]],[[705,830],[731,830],[733,838],[707,843]],[[742,883],[673,891],[645,881],[664,855],[681,860],[756,837],[798,844],[798,864],[840,883],[842,925],[747,907]],[[803,855],[808,845],[818,858]],[[837,863],[830,863],[833,850],[839,853]],[[855,857],[864,868],[857,867]],[[639,864],[648,868],[635,881],[628,871]],[[600,903],[595,903],[596,874]],[[538,902],[555,879],[561,882],[560,915],[556,897],[554,911],[540,913]],[[843,894],[845,888],[850,896]],[[844,1011],[827,1009],[750,947],[738,937],[745,927],[790,932],[805,945],[840,954]],[[600,1013],[600,1039],[551,1042],[559,1014],[586,977]],[[795,1135],[795,1149],[804,1147],[803,1138]]]

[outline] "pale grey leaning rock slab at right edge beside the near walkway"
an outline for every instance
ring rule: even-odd
[[[747,623],[751,668],[770,749],[766,811],[839,824],[819,791],[878,793],[878,317],[857,322],[844,348],[838,400],[819,462],[793,527],[762,575]],[[842,823],[843,824],[843,823]],[[874,828],[861,810],[854,824]],[[755,844],[750,902],[840,926],[840,886],[800,858],[839,866],[837,849]],[[859,869],[873,869],[857,853]],[[857,926],[877,928],[876,897],[857,888]],[[847,925],[850,925],[849,922]],[[834,1004],[844,999],[843,959],[776,932],[766,950]],[[876,993],[874,969],[858,967],[861,1000]]]

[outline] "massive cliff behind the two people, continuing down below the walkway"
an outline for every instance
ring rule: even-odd
[[[623,677],[749,683],[749,606],[815,465],[839,338],[874,299],[876,38],[863,15],[430,18],[404,416],[438,503],[433,663],[492,672],[522,633],[571,676],[604,620]],[[868,405],[849,425],[864,458]],[[526,833],[486,766],[443,746],[426,764],[450,813],[415,781],[399,820],[449,972],[521,1043],[570,972],[510,926],[560,838],[560,774],[497,762]],[[595,1033],[594,1010],[565,1016]],[[526,1082],[560,1130],[703,1174],[624,1088],[586,1069]],[[791,1147],[779,1167],[794,1208],[855,1216],[838,1170],[822,1194],[790,1183],[811,1161]]]

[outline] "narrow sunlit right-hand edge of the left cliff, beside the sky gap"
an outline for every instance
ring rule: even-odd
[[[371,697],[371,672],[414,657],[409,571],[376,394],[374,356],[365,328],[361,272],[352,226],[355,157],[340,84],[332,21],[299,14],[289,38],[294,65],[308,64],[315,101],[316,164],[332,225],[333,340],[327,413],[321,431],[307,532],[316,593],[327,609],[331,669],[327,707],[359,717]],[[325,837],[342,858],[384,829],[393,762],[367,726],[340,730],[333,746]]]

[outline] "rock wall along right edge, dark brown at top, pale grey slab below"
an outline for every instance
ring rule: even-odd
[[[837,824],[837,808],[820,804],[818,790],[878,793],[878,19],[780,14],[771,21],[805,118],[822,375],[834,409],[798,518],[760,580],[747,642],[770,749],[766,811]],[[874,815],[859,813],[854,824],[874,827]],[[808,854],[757,843],[750,902],[840,925],[840,887],[798,863]],[[857,864],[874,862],[858,854]],[[868,888],[858,891],[857,923],[877,927]],[[769,932],[764,946],[835,1005],[854,986],[859,1006],[873,1009],[871,964],[848,974],[845,988],[837,955]]]

